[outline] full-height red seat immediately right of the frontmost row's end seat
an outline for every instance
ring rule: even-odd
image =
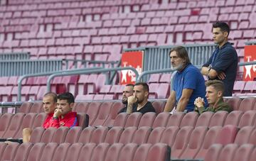
[[[182,127],[174,140],[174,145],[171,146],[171,158],[179,158],[182,152],[188,145],[188,139],[191,137],[191,132],[193,131],[192,126]]]

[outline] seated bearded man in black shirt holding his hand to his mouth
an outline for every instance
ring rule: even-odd
[[[127,112],[130,114],[133,112],[140,112],[144,114],[146,112],[156,112],[152,104],[147,100],[148,96],[149,96],[148,84],[144,82],[134,84],[133,95],[128,96],[128,99],[127,99],[127,96],[124,96],[123,94],[122,102],[123,104],[127,102],[127,106],[121,109],[119,113]]]

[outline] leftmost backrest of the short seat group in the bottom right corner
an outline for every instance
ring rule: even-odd
[[[215,161],[218,160],[218,156],[223,148],[222,144],[213,144],[210,146],[208,151],[206,152],[206,157],[204,160],[206,161]]]

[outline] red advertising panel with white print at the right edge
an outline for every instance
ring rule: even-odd
[[[245,45],[245,62],[256,61],[256,45]],[[256,65],[244,67],[243,79],[250,81],[256,78]]]

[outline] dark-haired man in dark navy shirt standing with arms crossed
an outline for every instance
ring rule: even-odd
[[[223,96],[232,96],[238,69],[238,53],[228,42],[229,33],[230,28],[227,23],[213,23],[213,41],[218,47],[201,70],[201,73],[208,76],[208,79],[219,79],[224,83]]]

